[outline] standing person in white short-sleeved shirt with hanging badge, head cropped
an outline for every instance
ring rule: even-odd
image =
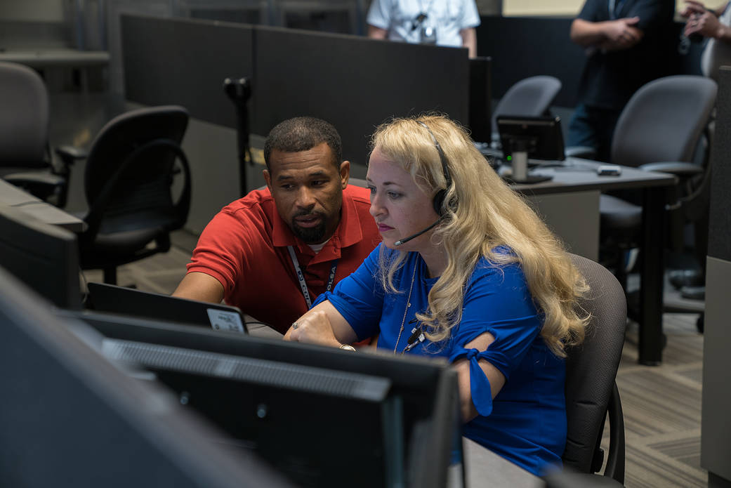
[[[374,0],[366,22],[374,39],[466,47],[470,58],[477,56],[474,0]]]

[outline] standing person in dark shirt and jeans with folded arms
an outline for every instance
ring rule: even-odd
[[[594,148],[595,159],[608,161],[624,105],[667,72],[662,53],[673,14],[667,0],[586,0],[571,24],[571,40],[584,47],[587,60],[567,145]]]

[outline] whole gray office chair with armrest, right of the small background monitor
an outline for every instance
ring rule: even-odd
[[[651,81],[627,102],[614,131],[612,163],[678,176],[680,183],[673,188],[667,205],[671,245],[675,248],[680,246],[686,221],[697,221],[704,215],[697,206],[710,188],[708,157],[700,165],[692,161],[708,126],[716,91],[716,83],[701,76]],[[624,287],[624,252],[637,247],[642,208],[629,199],[602,194],[599,211],[602,249],[613,255],[615,274]]]

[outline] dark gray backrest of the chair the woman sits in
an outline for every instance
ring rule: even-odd
[[[564,465],[590,473],[624,345],[626,298],[617,278],[601,264],[571,258],[591,288],[580,302],[591,313],[591,323],[583,343],[567,349],[568,430],[562,458]]]

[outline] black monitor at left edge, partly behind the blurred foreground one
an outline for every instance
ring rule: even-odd
[[[80,309],[76,236],[0,205],[0,267],[57,307]]]

